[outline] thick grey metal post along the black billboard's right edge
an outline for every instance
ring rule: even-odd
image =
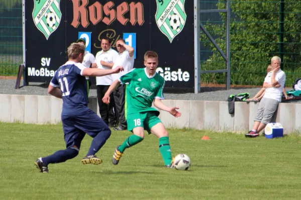
[[[200,59],[200,0],[194,0],[194,67],[195,93],[201,91],[201,59]]]

